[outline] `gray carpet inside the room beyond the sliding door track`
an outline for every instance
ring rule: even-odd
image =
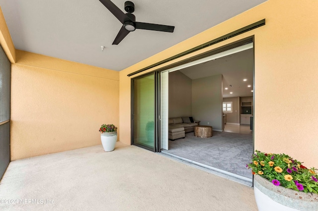
[[[246,168],[253,153],[252,134],[213,131],[211,138],[200,138],[186,133],[185,139],[169,140],[165,152],[252,178]]]

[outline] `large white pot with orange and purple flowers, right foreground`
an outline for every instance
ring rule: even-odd
[[[280,208],[283,210],[288,210],[285,207],[306,211],[318,209],[318,169],[307,168],[285,154],[257,150],[246,167],[255,175],[254,195],[259,211],[265,206],[269,209],[270,203],[273,209],[278,206],[284,206]]]

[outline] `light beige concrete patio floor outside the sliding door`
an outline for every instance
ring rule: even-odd
[[[117,142],[10,162],[0,210],[257,211],[252,188]]]

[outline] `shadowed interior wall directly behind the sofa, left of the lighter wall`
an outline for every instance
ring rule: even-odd
[[[180,71],[169,73],[169,118],[192,116],[192,80]]]

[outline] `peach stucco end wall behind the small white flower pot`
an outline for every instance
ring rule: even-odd
[[[16,55],[11,160],[99,145],[101,124],[119,127],[118,72],[35,53]]]

